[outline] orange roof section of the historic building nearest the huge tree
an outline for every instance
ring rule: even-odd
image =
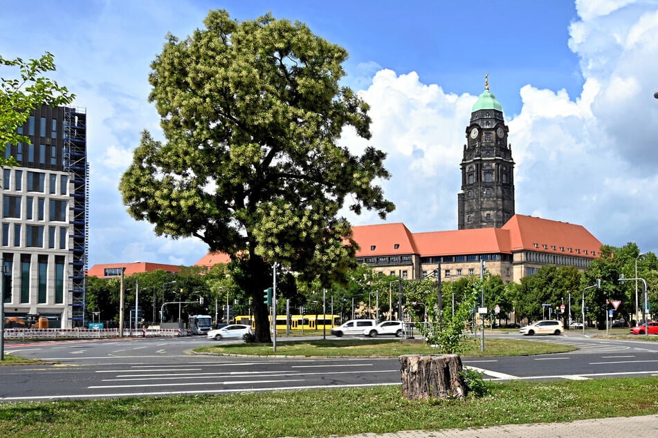
[[[357,257],[418,254],[411,232],[401,222],[359,225],[352,227],[352,233],[360,247],[356,251]]]

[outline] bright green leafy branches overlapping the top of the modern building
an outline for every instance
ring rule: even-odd
[[[55,57],[46,52],[39,59],[21,58],[5,59],[0,56],[0,66],[5,69],[16,69],[19,78],[10,78],[4,73],[0,78],[0,151],[10,144],[29,143],[30,139],[20,135],[19,126],[30,117],[30,110],[46,104],[59,106],[73,102],[75,95],[69,94],[64,86],[43,76],[42,73],[55,71]],[[14,157],[5,158],[0,155],[0,166],[14,166]]]

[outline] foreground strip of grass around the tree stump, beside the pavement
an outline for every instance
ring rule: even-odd
[[[462,401],[398,386],[196,397],[0,403],[5,437],[325,437],[658,413],[655,377],[489,383]]]

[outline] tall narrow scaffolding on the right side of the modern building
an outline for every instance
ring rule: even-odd
[[[72,327],[84,327],[87,242],[89,241],[89,164],[86,160],[86,111],[64,108],[64,170],[68,172],[68,292]]]

